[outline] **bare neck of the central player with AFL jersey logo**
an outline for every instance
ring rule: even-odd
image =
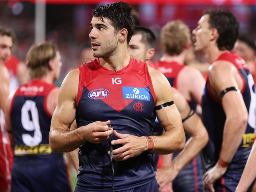
[[[123,69],[123,67],[128,65],[130,62],[127,46],[120,46],[119,48],[116,48],[116,50],[114,50],[110,56],[100,58],[99,61],[101,66],[106,67],[112,71]]]

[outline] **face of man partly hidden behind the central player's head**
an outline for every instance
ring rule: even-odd
[[[141,39],[141,34],[133,35],[130,40],[128,50],[131,57],[135,58],[136,60],[146,62],[147,50],[145,44],[141,42]]]

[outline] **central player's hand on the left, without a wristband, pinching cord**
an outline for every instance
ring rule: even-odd
[[[113,129],[108,127],[108,125],[110,125],[109,120],[95,121],[86,126],[80,127],[79,129],[84,130],[84,140],[93,144],[100,144],[108,140],[109,136],[113,132]]]

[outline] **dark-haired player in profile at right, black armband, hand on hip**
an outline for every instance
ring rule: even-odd
[[[193,30],[195,50],[211,64],[202,99],[203,123],[209,134],[203,150],[207,169],[203,179],[211,192],[235,191],[254,141],[253,78],[245,61],[230,53],[238,29],[233,13],[209,9]]]

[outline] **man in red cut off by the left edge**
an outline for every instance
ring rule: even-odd
[[[0,192],[9,192],[13,153],[5,128],[6,101],[9,95],[9,75],[4,65],[11,55],[13,32],[0,26]]]

